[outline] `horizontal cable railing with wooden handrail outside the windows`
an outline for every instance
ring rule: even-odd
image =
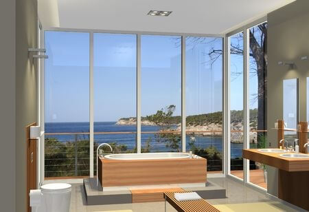
[[[232,130],[233,133],[242,133],[242,130]],[[266,130],[252,130],[252,132],[266,132]],[[115,138],[117,135],[132,135],[128,138]],[[113,145],[114,153],[134,153],[137,152],[135,144],[136,131],[104,131],[94,132],[93,164],[96,171],[96,148],[102,142],[108,142]],[[178,149],[166,147],[166,140],[161,138],[160,134],[177,134],[181,131],[141,131],[142,152],[158,151],[181,151]],[[204,131],[186,131],[187,149],[194,149],[194,153],[203,158],[207,158],[208,171],[222,171],[222,152],[223,140],[222,130],[204,130]],[[45,133],[45,178],[82,178],[89,176],[90,149],[89,132],[49,132]],[[190,137],[196,136],[194,148],[189,145]],[[106,137],[107,136],[107,137]],[[114,136],[114,137],[110,137]],[[179,137],[180,138],[180,137]],[[206,140],[206,139],[210,140]],[[213,139],[214,138],[214,139]],[[213,139],[213,140],[211,140]],[[150,142],[149,142],[150,141]],[[181,145],[181,142],[179,142]],[[231,147],[231,149],[239,149]],[[104,149],[106,153],[108,149]],[[241,157],[242,158],[242,157]],[[234,160],[240,161],[241,158]],[[238,168],[238,162],[235,164]]]

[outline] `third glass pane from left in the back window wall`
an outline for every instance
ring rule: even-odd
[[[181,36],[141,36],[142,152],[181,151]]]

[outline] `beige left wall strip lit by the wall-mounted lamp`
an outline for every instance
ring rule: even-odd
[[[37,47],[37,2],[16,0],[16,211],[26,205],[25,126],[37,121],[36,59],[28,55]]]

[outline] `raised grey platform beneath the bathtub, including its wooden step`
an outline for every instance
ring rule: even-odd
[[[96,178],[84,179],[84,195],[87,205],[128,204],[133,202],[161,202],[166,191],[194,191],[204,199],[226,198],[226,191],[217,184],[166,184],[136,187],[96,186]]]

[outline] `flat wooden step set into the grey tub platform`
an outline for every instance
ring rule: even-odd
[[[164,192],[178,192],[183,191],[181,188],[168,188],[168,189],[133,189],[132,203],[138,202],[163,202]]]

